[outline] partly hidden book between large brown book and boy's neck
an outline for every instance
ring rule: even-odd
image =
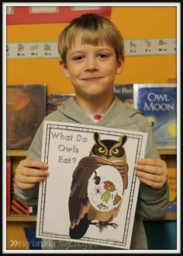
[[[47,114],[57,110],[57,106],[67,100],[69,97],[74,97],[74,93],[51,93],[47,94]]]

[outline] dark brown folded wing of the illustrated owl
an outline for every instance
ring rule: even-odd
[[[71,228],[78,223],[88,212],[90,202],[88,201],[88,179],[97,169],[97,161],[94,157],[84,157],[78,163],[78,167],[74,170],[73,180],[71,184],[71,194],[69,197],[69,215],[71,220]]]

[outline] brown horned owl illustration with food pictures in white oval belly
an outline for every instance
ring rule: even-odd
[[[127,136],[119,140],[100,139],[94,133],[95,145],[89,156],[80,160],[72,175],[69,197],[70,230],[73,239],[85,235],[90,225],[102,232],[119,213],[123,193],[128,186],[128,164],[124,144]]]

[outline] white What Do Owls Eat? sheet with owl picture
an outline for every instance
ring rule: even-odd
[[[36,237],[129,249],[146,144],[145,132],[44,121],[50,175],[40,183]]]

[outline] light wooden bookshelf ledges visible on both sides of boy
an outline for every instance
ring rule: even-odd
[[[166,161],[167,169],[174,168],[177,169],[177,150],[176,149],[159,149],[159,154],[161,155],[161,159]],[[7,156],[12,157],[12,161],[15,162],[13,165],[17,165],[19,160],[22,160],[27,155],[26,149],[8,149],[6,151]],[[17,163],[16,163],[17,162]],[[177,212],[165,212],[164,216],[160,219],[154,220],[176,220]],[[144,219],[150,220],[150,219]],[[6,216],[6,221],[9,222],[36,222],[36,216],[31,215],[16,215],[13,214],[11,216]]]

